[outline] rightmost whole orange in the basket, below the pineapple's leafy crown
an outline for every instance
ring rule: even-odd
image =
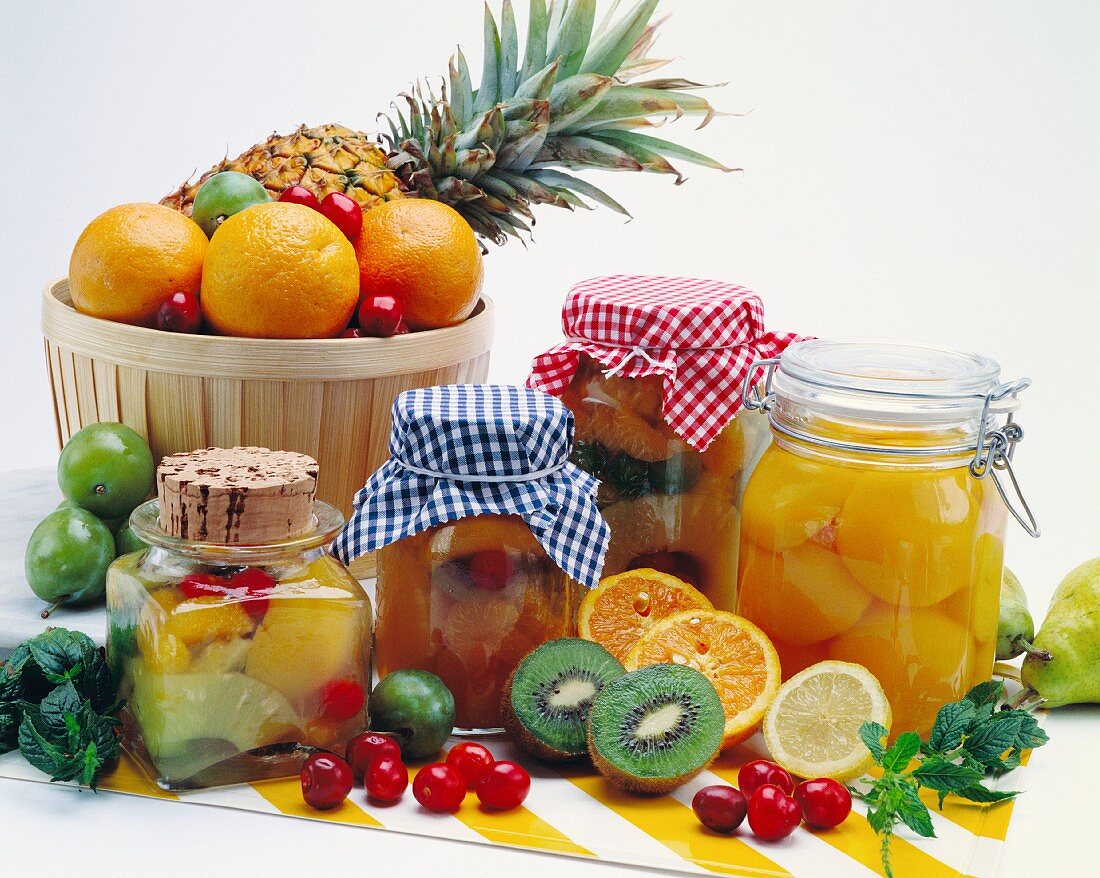
[[[481,295],[477,239],[439,201],[402,198],[366,211],[355,254],[362,294],[394,296],[409,329],[461,323]]]

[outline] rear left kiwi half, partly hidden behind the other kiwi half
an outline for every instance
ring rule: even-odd
[[[519,662],[505,687],[504,727],[539,759],[565,762],[585,756],[592,700],[623,673],[619,660],[600,644],[549,640]]]

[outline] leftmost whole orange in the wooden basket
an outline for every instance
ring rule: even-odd
[[[198,295],[207,240],[162,205],[119,205],[80,233],[69,259],[69,292],[82,314],[153,326],[173,293]]]

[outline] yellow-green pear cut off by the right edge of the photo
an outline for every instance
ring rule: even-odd
[[[1100,558],[1070,571],[1050,599],[1020,679],[1047,707],[1100,702]]]

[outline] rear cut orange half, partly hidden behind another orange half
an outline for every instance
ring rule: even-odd
[[[684,610],[711,610],[706,595],[682,579],[652,568],[606,577],[584,595],[578,633],[619,661],[657,622]]]

